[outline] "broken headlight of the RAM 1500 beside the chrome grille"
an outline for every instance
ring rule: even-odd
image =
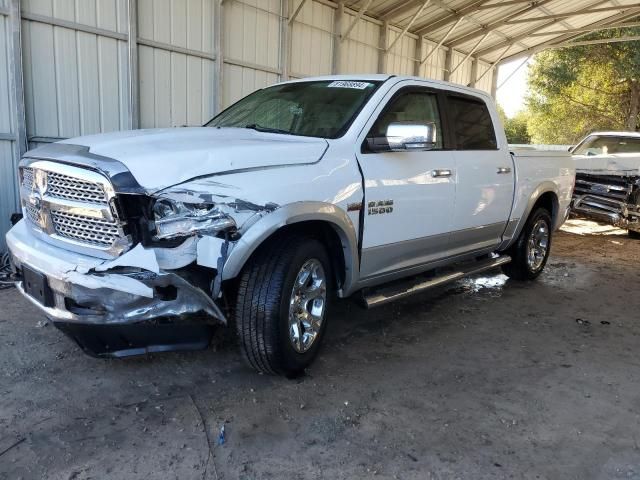
[[[215,203],[189,203],[159,198],[153,205],[153,216],[157,240],[216,233],[236,226],[236,222]]]

